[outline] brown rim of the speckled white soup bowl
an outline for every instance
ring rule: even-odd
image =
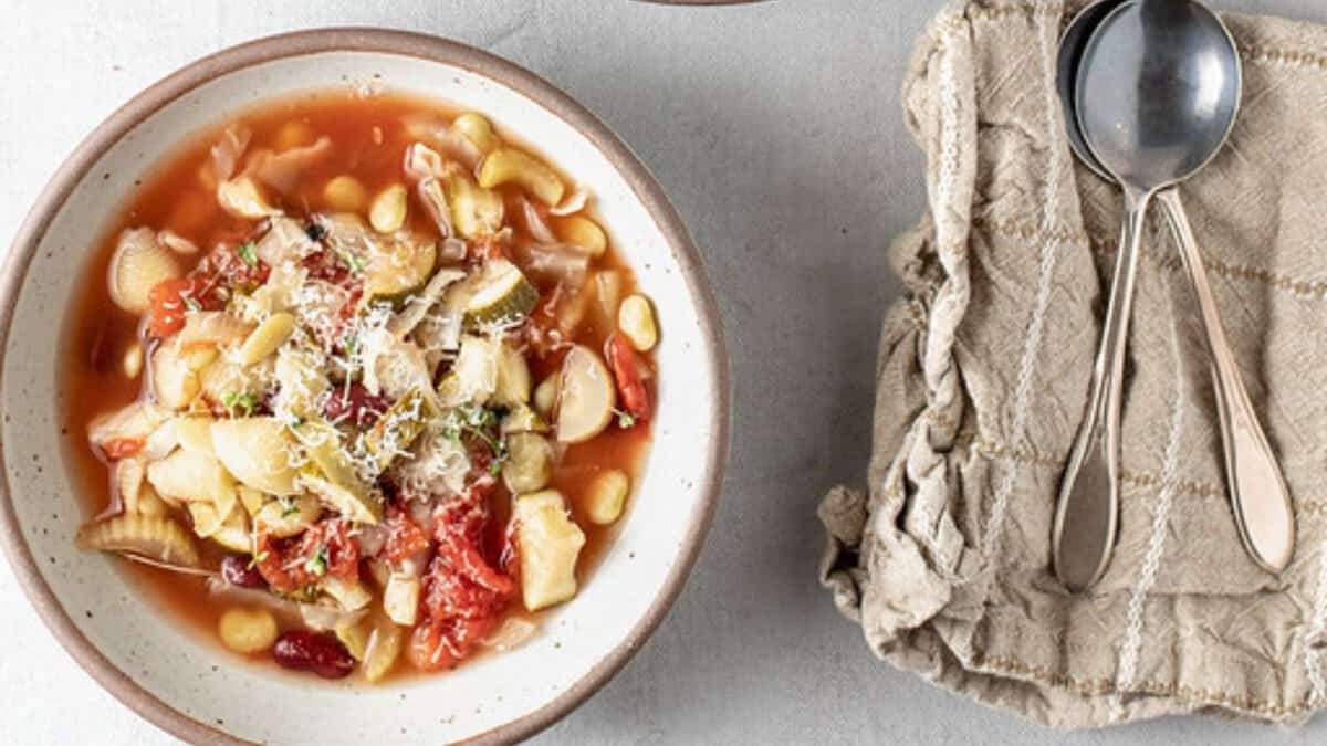
[[[669,203],[662,188],[656,183],[645,165],[636,158],[606,125],[584,106],[552,84],[514,62],[466,44],[405,31],[376,28],[299,31],[259,38],[203,57],[151,85],[110,114],[74,149],[42,188],[37,196],[37,202],[19,227],[9,256],[4,263],[4,276],[0,280],[0,350],[8,346],[20,288],[27,276],[28,265],[32,263],[36,248],[45,236],[50,220],[86,171],[107,149],[117,143],[125,133],[166,104],[219,76],[272,60],[322,52],[402,54],[456,65],[520,92],[576,127],[622,174],[637,199],[641,200],[656,224],[658,224],[681,264],[687,288],[699,304],[701,328],[714,360],[709,373],[717,389],[718,406],[710,415],[714,438],[707,454],[709,461],[702,485],[703,495],[701,504],[690,518],[690,526],[681,546],[681,561],[669,572],[658,595],[646,609],[645,616],[637,621],[622,644],[594,664],[588,674],[543,708],[486,733],[474,735],[471,741],[506,743],[528,738],[572,711],[589,698],[591,694],[604,686],[626,664],[632,654],[645,644],[650,633],[667,615],[669,608],[673,605],[674,599],[677,599],[690,573],[691,565],[699,555],[701,544],[714,518],[729,447],[729,361],[718,307],[706,280],[699,252],[691,242],[681,216],[678,216],[671,203]],[[3,368],[0,368],[0,396],[3,396],[3,390],[4,378]],[[0,442],[0,465],[3,463],[5,463],[5,457],[3,442]],[[115,668],[93,646],[69,619],[69,615],[37,569],[32,552],[19,528],[12,500],[8,469],[0,469],[0,543],[4,544],[5,554],[15,568],[19,584],[27,593],[28,600],[37,609],[37,615],[78,665],[121,702],[178,738],[190,743],[245,743],[158,700]]]

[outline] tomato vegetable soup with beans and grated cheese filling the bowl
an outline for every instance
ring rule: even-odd
[[[575,603],[640,475],[658,329],[537,135],[322,92],[135,182],[66,332],[80,543],[324,677],[447,670]]]

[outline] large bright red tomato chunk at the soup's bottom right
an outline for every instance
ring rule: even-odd
[[[471,491],[438,511],[438,554],[423,581],[423,619],[410,638],[410,661],[439,670],[468,656],[502,617],[516,591],[480,550],[488,512],[482,492]]]

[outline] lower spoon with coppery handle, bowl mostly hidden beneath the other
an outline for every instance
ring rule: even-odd
[[[1097,175],[1111,179],[1087,146],[1079,129],[1075,89],[1078,68],[1087,42],[1097,25],[1119,8],[1125,0],[1103,0],[1084,8],[1066,31],[1059,52],[1058,88],[1060,102],[1066,112],[1066,127],[1074,153]],[[1200,7],[1200,11],[1205,11]],[[1220,20],[1217,20],[1220,25]],[[1229,38],[1229,32],[1222,27]],[[1234,41],[1229,42],[1234,58],[1235,85],[1234,105],[1238,109],[1239,66],[1234,56]],[[1227,65],[1229,66],[1229,65]],[[1234,114],[1231,114],[1233,125]],[[1220,149],[1220,146],[1218,146]],[[1217,400],[1217,413],[1221,422],[1222,451],[1225,457],[1226,483],[1230,488],[1235,524],[1249,556],[1270,572],[1279,572],[1290,563],[1294,554],[1294,516],[1290,506],[1290,491],[1286,487],[1277,457],[1263,434],[1253,404],[1245,390],[1243,380],[1226,344],[1225,331],[1217,312],[1216,299],[1208,284],[1206,271],[1198,252],[1193,230],[1174,186],[1162,188],[1156,195],[1165,210],[1180,256],[1189,271],[1198,309],[1206,332],[1208,350],[1212,361],[1213,392]]]

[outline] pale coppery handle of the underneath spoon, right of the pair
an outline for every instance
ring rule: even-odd
[[[1221,446],[1225,455],[1230,503],[1249,556],[1269,572],[1281,572],[1295,551],[1295,516],[1290,490],[1281,474],[1277,455],[1258,423],[1239,366],[1235,364],[1226,333],[1217,315],[1217,301],[1208,284],[1202,256],[1185,215],[1180,191],[1164,190],[1157,195],[1180,244],[1180,256],[1193,280],[1198,312],[1206,329],[1212,360],[1213,389],[1221,421]]]

